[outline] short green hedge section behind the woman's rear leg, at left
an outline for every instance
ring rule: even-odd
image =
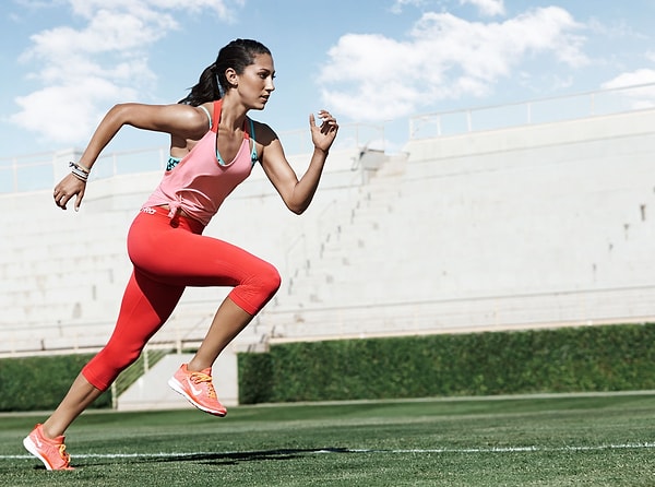
[[[0,411],[50,411],[59,405],[90,355],[7,358],[0,360]],[[94,407],[110,407],[103,394]]]

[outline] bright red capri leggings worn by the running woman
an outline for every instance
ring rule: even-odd
[[[116,328],[107,345],[82,369],[105,391],[162,328],[186,286],[230,286],[229,298],[257,314],[277,292],[281,278],[270,263],[247,251],[202,236],[193,218],[170,219],[163,207],[143,209],[128,234],[134,269]]]

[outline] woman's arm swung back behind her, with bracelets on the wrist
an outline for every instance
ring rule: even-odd
[[[207,131],[207,117],[202,109],[189,105],[115,105],[98,124],[78,163],[91,170],[103,150],[123,126],[198,140]],[[85,188],[85,181],[69,174],[55,187],[55,203],[66,210],[67,203],[75,197],[74,207],[78,211]]]

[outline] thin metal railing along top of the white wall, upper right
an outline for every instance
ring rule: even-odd
[[[457,135],[655,107],[655,83],[425,114],[409,119],[409,139]]]

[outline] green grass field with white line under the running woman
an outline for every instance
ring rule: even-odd
[[[90,413],[74,472],[0,416],[0,483],[17,486],[653,486],[655,393]]]

